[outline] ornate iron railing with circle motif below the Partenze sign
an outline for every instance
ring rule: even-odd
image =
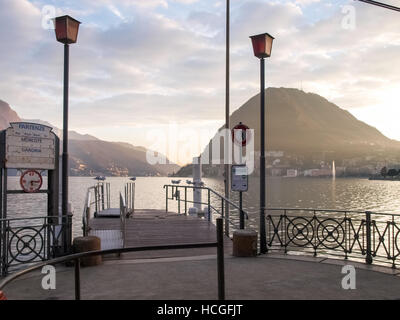
[[[71,253],[72,215],[0,219],[0,271]]]

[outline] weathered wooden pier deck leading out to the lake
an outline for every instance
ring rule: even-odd
[[[89,220],[89,235],[101,239],[102,249],[123,245],[121,220],[96,217]],[[232,253],[232,243],[224,238],[225,252]],[[216,241],[216,227],[211,222],[193,216],[151,209],[135,209],[125,220],[125,247],[173,245]],[[171,258],[214,255],[216,248],[176,249],[125,253],[121,259]],[[109,256],[106,258],[116,258]]]

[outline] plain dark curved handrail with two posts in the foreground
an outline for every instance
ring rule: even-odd
[[[137,251],[151,251],[151,250],[177,250],[177,249],[197,249],[197,248],[217,248],[217,281],[218,281],[218,299],[225,299],[225,266],[224,266],[224,239],[223,239],[223,221],[222,218],[216,220],[217,224],[217,241],[207,242],[207,243],[190,243],[190,244],[179,244],[179,245],[162,245],[162,246],[148,246],[148,247],[131,247],[131,248],[119,248],[110,250],[99,250],[90,251],[84,253],[72,254],[69,256],[64,256],[56,259],[52,259],[46,262],[38,263],[32,267],[25,270],[19,271],[5,278],[0,282],[0,290],[4,290],[4,287],[28,274],[32,271],[43,268],[46,265],[55,265],[60,263],[65,263],[68,261],[74,261],[74,282],[75,282],[75,300],[81,299],[81,275],[80,275],[80,260],[85,257],[106,255],[106,254],[122,254],[126,252],[137,252]]]

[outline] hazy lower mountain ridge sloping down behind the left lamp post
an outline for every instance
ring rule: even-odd
[[[10,122],[34,122],[53,128],[61,139],[62,130],[43,120],[21,120],[11,107],[0,100],[0,130]],[[109,142],[88,134],[68,132],[70,174],[78,176],[166,176],[179,170],[170,163],[151,165],[146,160],[147,149],[125,142]]]

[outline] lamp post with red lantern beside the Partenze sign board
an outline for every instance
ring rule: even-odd
[[[57,41],[64,44],[64,103],[63,103],[63,153],[62,153],[62,214],[68,215],[68,86],[69,44],[78,38],[80,22],[70,16],[54,19]],[[64,243],[64,245],[66,245]]]

